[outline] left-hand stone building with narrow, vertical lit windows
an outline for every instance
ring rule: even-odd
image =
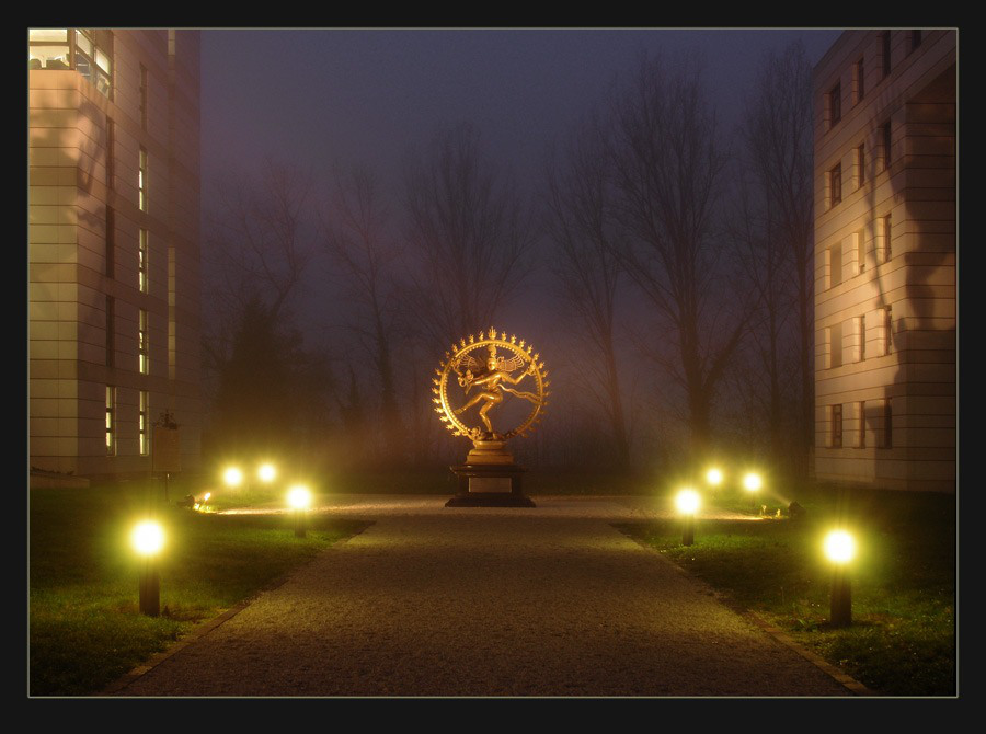
[[[194,468],[199,34],[31,30],[27,67],[32,483],[146,475],[162,423]]]

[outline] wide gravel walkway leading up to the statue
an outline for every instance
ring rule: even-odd
[[[612,527],[643,498],[349,497],[374,520],[118,696],[851,696]]]

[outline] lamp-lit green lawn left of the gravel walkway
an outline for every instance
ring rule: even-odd
[[[174,496],[174,495],[172,495]],[[167,527],[160,617],[138,610],[134,521]],[[30,495],[30,693],[96,693],[202,620],[250,597],[368,523],[223,516],[165,506],[139,483]]]

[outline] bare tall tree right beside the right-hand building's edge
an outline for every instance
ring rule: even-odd
[[[761,61],[757,93],[744,124],[749,170],[770,211],[771,237],[791,259],[800,376],[802,470],[814,441],[812,214],[812,67],[800,43]]]

